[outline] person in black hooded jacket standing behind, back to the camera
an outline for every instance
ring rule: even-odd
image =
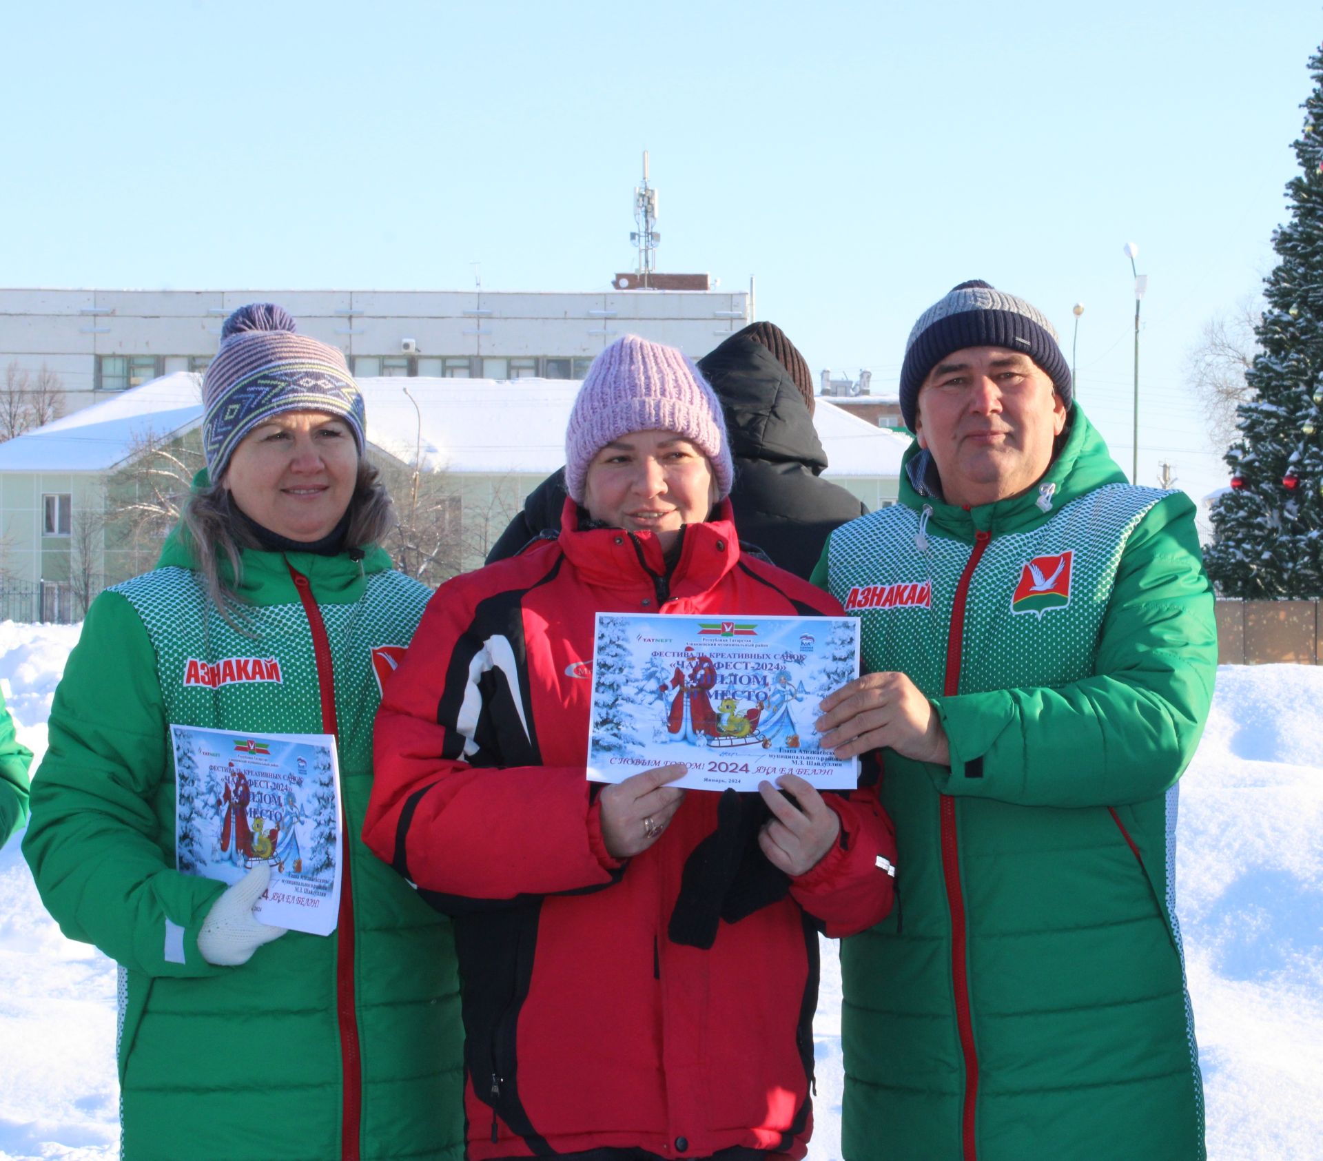
[[[804,357],[774,323],[750,323],[700,358],[699,370],[717,393],[730,434],[730,504],[741,541],[808,579],[832,530],[868,509],[819,479],[827,454],[814,428]],[[562,468],[529,493],[487,563],[516,555],[542,532],[558,532],[565,495]]]

